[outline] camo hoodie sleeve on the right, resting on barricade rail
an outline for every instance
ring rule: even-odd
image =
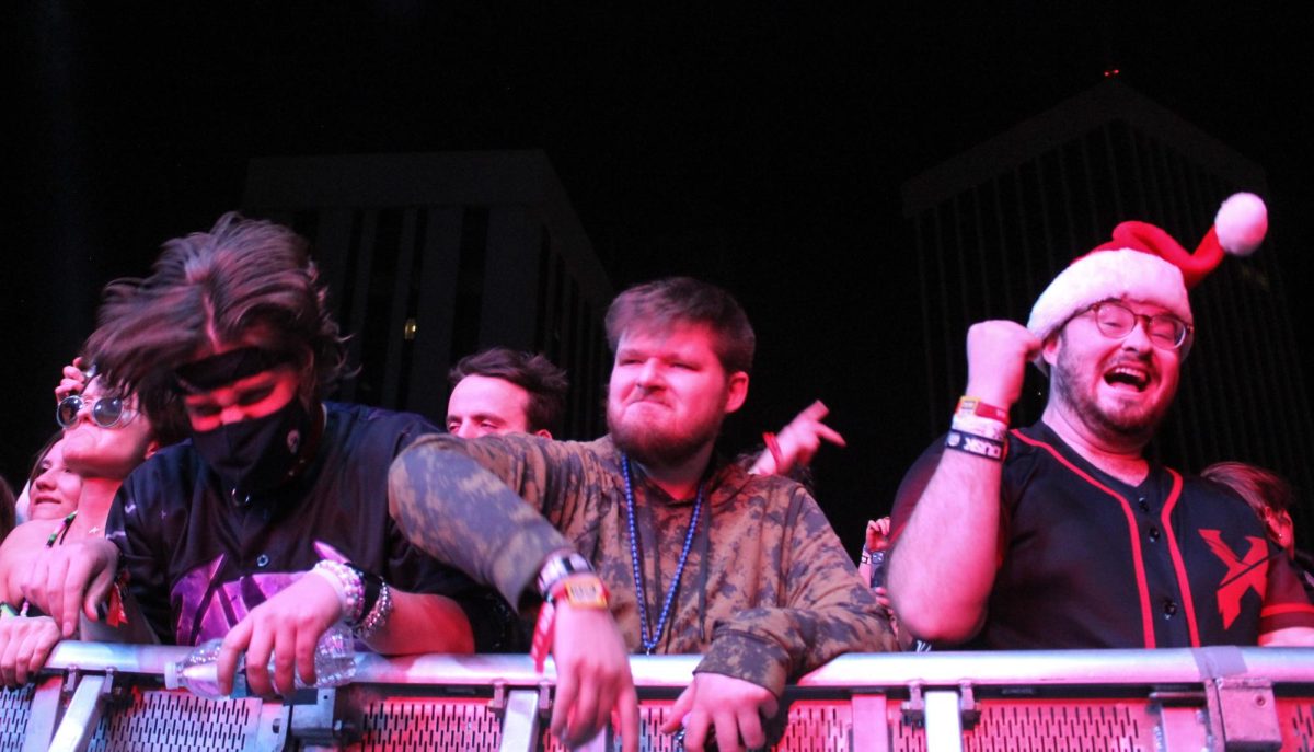
[[[795,486],[782,514],[787,550],[775,560],[787,584],[784,601],[717,622],[695,669],[742,678],[777,695],[787,681],[841,653],[897,649],[888,621],[816,501]]]

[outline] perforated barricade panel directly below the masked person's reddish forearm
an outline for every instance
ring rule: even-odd
[[[384,699],[361,720],[361,752],[495,752],[502,720],[485,698]]]

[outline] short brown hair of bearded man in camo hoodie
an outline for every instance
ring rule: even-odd
[[[668,277],[635,285],[616,296],[607,309],[607,344],[616,352],[620,335],[632,326],[665,327],[674,323],[704,325],[727,373],[753,371],[757,337],[748,314],[731,293],[690,277]]]

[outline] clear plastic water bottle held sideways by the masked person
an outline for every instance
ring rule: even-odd
[[[164,667],[166,689],[187,689],[206,699],[247,697],[246,660],[238,660],[237,674],[233,677],[233,694],[219,692],[218,660],[223,640],[213,639],[196,646],[188,656]],[[273,677],[273,656],[269,656],[269,676]],[[315,646],[315,686],[340,686],[356,676],[356,647],[351,630],[335,624],[321,635]],[[301,676],[293,670],[297,689],[307,689]]]

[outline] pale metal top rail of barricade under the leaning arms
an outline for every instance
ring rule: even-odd
[[[46,670],[154,674],[183,660],[191,648],[64,642]],[[639,688],[683,688],[699,656],[632,656]],[[356,682],[536,686],[556,681],[552,661],[540,676],[526,655],[422,655],[356,657]],[[834,659],[796,684],[804,688],[884,688],[921,684],[976,685],[1151,685],[1198,684],[1254,677],[1275,684],[1314,684],[1314,648],[1209,647],[1171,649],[865,653]]]

